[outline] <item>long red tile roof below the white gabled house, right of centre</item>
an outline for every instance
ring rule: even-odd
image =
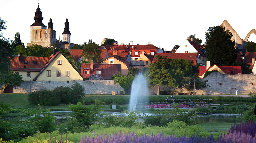
[[[197,57],[198,57],[198,53],[156,53],[156,55],[160,55],[162,57],[167,56],[167,58],[170,59],[186,59],[186,60],[190,60],[191,63],[193,63],[193,65],[196,65],[196,61],[197,61]],[[154,61],[156,61],[156,58],[153,58],[152,63]]]

